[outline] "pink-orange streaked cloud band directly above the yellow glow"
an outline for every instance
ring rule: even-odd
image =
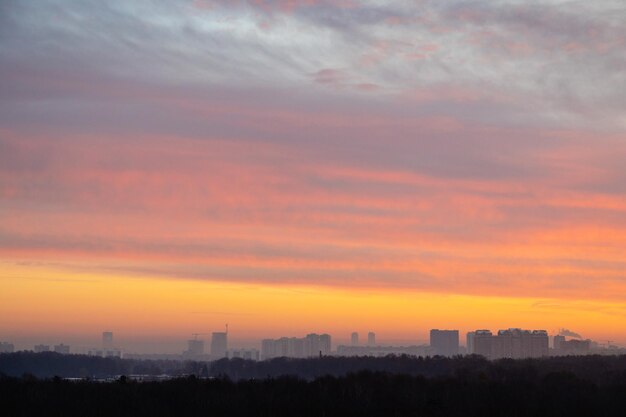
[[[0,141],[12,161],[0,169],[5,259],[469,294],[623,289],[623,199],[573,191],[550,166],[488,178],[363,166],[288,142],[48,135]]]

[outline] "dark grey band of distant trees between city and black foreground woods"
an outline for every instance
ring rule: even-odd
[[[548,373],[571,372],[594,383],[626,373],[626,356],[567,356],[525,360],[488,361],[481,356],[455,358],[386,356],[322,357],[312,359],[276,358],[255,362],[222,359],[212,363],[176,360],[138,360],[99,358],[86,355],[60,355],[52,352],[17,352],[0,354],[0,375],[36,378],[105,378],[120,375],[171,375],[228,377],[232,380],[266,379],[290,375],[305,380],[322,376],[345,376],[368,370],[389,374],[406,374],[428,378],[463,375],[526,375],[543,377]]]

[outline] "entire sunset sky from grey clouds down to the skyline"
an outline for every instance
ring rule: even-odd
[[[626,7],[0,3],[0,340],[626,344]]]

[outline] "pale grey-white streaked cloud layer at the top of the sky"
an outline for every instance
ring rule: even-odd
[[[374,91],[364,86],[402,95],[462,85],[486,93],[483,105],[494,120],[624,128],[626,103],[614,86],[624,83],[626,33],[623,12],[610,2],[202,4],[211,7],[9,3],[0,69],[5,84],[9,91],[32,91],[26,80],[15,85],[30,73],[39,96],[72,88],[67,79],[74,88],[129,80],[306,89],[311,74],[341,69],[354,80],[346,95]],[[269,31],[259,28],[267,26],[267,13]],[[410,24],[389,25],[389,19]],[[37,68],[49,76],[33,74]],[[507,97],[508,104],[489,106],[490,97]]]

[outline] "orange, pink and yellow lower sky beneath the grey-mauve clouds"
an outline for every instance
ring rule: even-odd
[[[73,162],[45,179],[3,174],[5,338],[88,346],[114,329],[130,350],[176,351],[228,322],[244,345],[353,330],[417,343],[431,327],[626,339],[620,198],[558,176],[446,179],[283,165],[219,141],[80,139],[56,139],[51,159]],[[106,168],[123,158],[135,162]],[[43,181],[56,191],[27,194]]]

